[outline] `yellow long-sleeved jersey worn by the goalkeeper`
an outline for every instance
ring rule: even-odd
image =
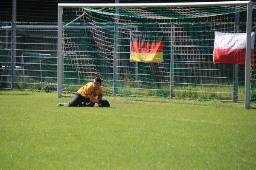
[[[96,103],[97,99],[96,96],[98,96],[98,99],[102,99],[103,96],[103,90],[102,87],[99,86],[97,90],[93,88],[93,82],[88,82],[86,85],[81,87],[77,93],[81,94],[84,98],[89,98],[91,102]]]

